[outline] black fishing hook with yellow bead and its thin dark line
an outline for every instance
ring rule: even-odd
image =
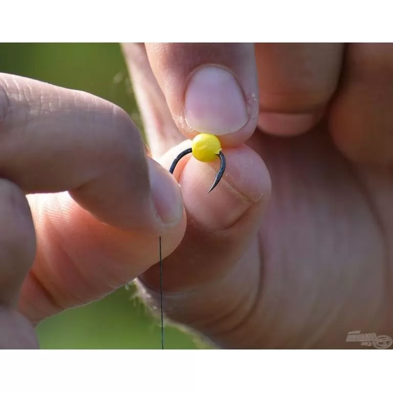
[[[219,171],[215,175],[214,183],[210,187],[210,191],[219,184],[221,178],[224,175],[226,168],[226,160],[223,152],[221,151],[220,140],[211,134],[199,134],[191,143],[191,147],[182,151],[172,162],[169,168],[169,173],[173,174],[174,168],[179,161],[187,154],[192,154],[197,160],[202,162],[211,162],[217,159],[221,160],[221,166]],[[164,349],[164,307],[163,307],[163,261],[162,261],[162,247],[161,247],[161,236],[160,236],[160,303],[161,303],[161,349]]]

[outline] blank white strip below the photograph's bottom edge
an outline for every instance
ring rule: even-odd
[[[1,353],[2,391],[369,392],[391,374],[391,355],[376,350]]]

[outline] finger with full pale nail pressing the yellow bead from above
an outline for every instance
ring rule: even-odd
[[[258,86],[252,43],[146,45],[173,120],[189,139],[220,136],[238,146],[256,128]]]

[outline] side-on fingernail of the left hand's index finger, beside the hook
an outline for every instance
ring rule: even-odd
[[[156,211],[165,225],[176,225],[183,216],[179,184],[154,160],[148,160],[150,187]]]

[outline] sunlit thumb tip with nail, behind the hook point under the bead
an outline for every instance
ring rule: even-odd
[[[201,163],[191,158],[184,166],[180,183],[188,214],[210,230],[223,230],[235,224],[256,204],[266,204],[271,181],[263,160],[242,145],[224,150],[227,168],[211,191],[220,162]]]

